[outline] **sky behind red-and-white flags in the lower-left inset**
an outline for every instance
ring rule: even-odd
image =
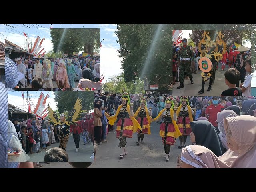
[[[50,107],[53,110],[57,109],[57,103],[54,101],[54,94],[53,91],[42,91],[44,96],[46,96],[47,94],[49,94],[49,98],[46,100],[46,107],[48,105],[48,103],[50,103]],[[40,96],[41,91],[28,91],[28,94],[33,102],[33,105],[31,104],[31,110],[34,111],[34,107],[36,107],[38,98]],[[24,104],[25,104],[25,111],[28,111],[28,104],[27,104],[27,92],[24,91]],[[21,91],[8,91],[8,103],[24,110],[23,107],[23,98],[22,98],[22,92]],[[45,107],[45,108],[46,108]]]

